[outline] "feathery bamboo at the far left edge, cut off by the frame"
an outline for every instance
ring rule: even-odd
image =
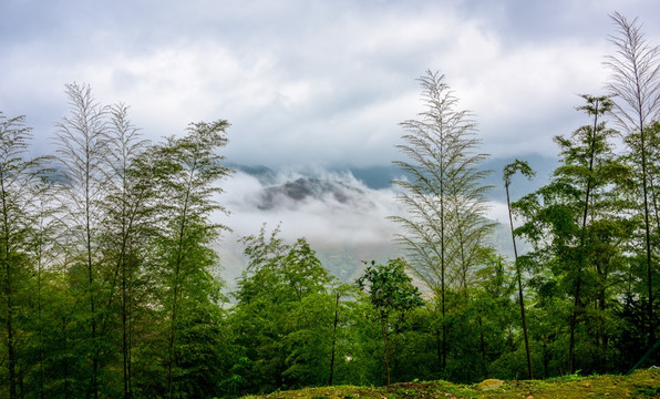
[[[27,334],[33,327],[30,318],[35,316],[32,293],[35,286],[41,287],[33,263],[40,216],[40,193],[34,187],[47,170],[43,160],[24,157],[31,139],[23,116],[7,119],[0,112],[0,339],[6,349],[6,393],[12,399],[20,393],[20,372],[32,346]]]

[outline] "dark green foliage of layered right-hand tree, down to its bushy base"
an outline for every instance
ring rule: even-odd
[[[611,337],[617,335],[617,325],[608,315],[612,300],[625,288],[623,243],[633,226],[627,217],[631,208],[629,168],[610,144],[616,132],[600,119],[612,103],[608,96],[582,98],[587,105],[578,110],[592,123],[570,137],[556,137],[561,164],[553,180],[514,204],[525,217],[516,233],[535,245],[522,260],[537,274],[530,284],[538,289],[539,304],[553,319],[570,320],[565,330],[535,327],[536,339],[543,341],[546,376],[554,362],[547,357],[548,348],[555,346],[568,348],[568,370],[579,365],[606,371],[606,359],[616,354]],[[543,264],[547,272],[538,269]],[[557,349],[549,352],[557,356]]]

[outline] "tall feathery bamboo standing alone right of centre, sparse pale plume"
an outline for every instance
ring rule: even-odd
[[[445,293],[450,283],[466,293],[467,274],[481,262],[479,248],[492,227],[483,217],[488,187],[482,181],[488,172],[478,168],[486,155],[476,152],[481,141],[473,115],[457,110],[444,75],[427,71],[419,81],[425,110],[417,120],[401,124],[406,133],[396,147],[408,160],[394,162],[411,176],[394,182],[402,188],[398,200],[408,214],[390,218],[403,228],[398,241],[412,270],[440,299],[439,362],[444,371]]]

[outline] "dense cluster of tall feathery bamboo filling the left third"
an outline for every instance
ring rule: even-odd
[[[208,246],[228,125],[149,144],[125,106],[66,94],[49,157],[25,160],[30,129],[0,115],[2,396],[208,396],[206,365],[226,359]]]

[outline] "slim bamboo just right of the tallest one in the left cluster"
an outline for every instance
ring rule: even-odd
[[[154,197],[152,187],[156,183],[155,176],[149,173],[146,160],[137,161],[138,157],[146,156],[146,145],[147,142],[142,140],[138,130],[128,120],[127,108],[123,104],[113,106],[107,141],[110,188],[103,205],[109,217],[104,226],[103,242],[107,252],[105,257],[114,264],[109,308],[113,300],[114,287],[118,286],[120,290],[124,398],[133,397],[131,337],[132,321],[136,316],[134,287],[141,266],[138,259],[144,262],[147,253],[145,247],[149,244],[148,232],[154,223],[149,201]],[[138,165],[144,168],[140,170]]]

